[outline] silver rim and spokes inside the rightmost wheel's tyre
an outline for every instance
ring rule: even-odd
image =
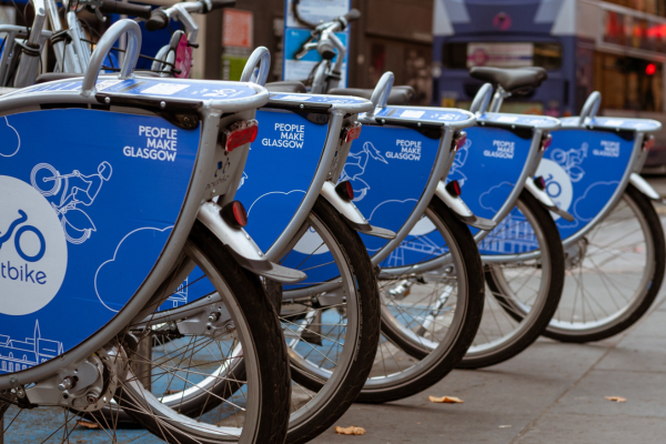
[[[581,242],[586,242],[582,254],[576,244],[565,248],[565,289],[551,332],[607,330],[629,316],[649,291],[656,266],[654,239],[640,208],[626,192]]]

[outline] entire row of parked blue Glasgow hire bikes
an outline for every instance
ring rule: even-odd
[[[339,88],[356,10],[312,26],[307,84],[266,83],[265,48],[240,82],[190,79],[192,14],[232,4],[31,0],[31,27],[0,26],[0,443],[303,443],[649,309],[660,123],[598,117],[596,92],[575,118],[502,112],[539,68],[472,69],[468,111],[410,105],[391,72]],[[83,10],[137,19],[93,41]],[[141,56],[138,22],[179,29]]]

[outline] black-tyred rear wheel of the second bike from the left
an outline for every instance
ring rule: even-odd
[[[311,275],[283,287],[281,321],[294,381],[289,443],[314,438],[347,411],[372,369],[380,336],[377,283],[359,234],[323,198],[301,233],[280,261]],[[305,239],[306,249],[297,248]],[[331,269],[326,274],[339,274],[333,290],[314,286],[324,282],[313,271],[324,266]]]

